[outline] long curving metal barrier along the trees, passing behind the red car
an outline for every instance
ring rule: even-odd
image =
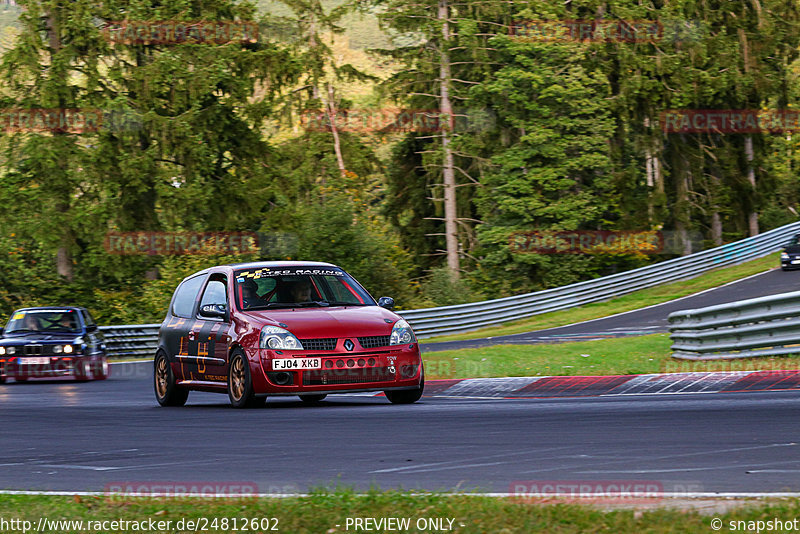
[[[421,310],[401,310],[397,313],[408,320],[414,332],[422,339],[467,332],[540,313],[608,300],[639,289],[693,278],[712,269],[760,258],[782,248],[797,233],[800,233],[800,222],[721,247],[568,286],[502,299]],[[106,333],[109,354],[149,356],[155,351],[159,326],[105,326],[101,330]]]

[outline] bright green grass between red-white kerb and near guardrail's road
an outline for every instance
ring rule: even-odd
[[[425,378],[594,376],[800,369],[800,355],[741,360],[672,358],[669,334],[540,345],[495,345],[422,355]]]

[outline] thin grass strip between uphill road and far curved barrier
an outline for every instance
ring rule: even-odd
[[[527,319],[520,319],[519,321],[503,323],[499,326],[491,326],[463,334],[452,334],[423,339],[420,340],[420,343],[424,344],[435,343],[438,341],[460,341],[464,339],[478,339],[489,336],[519,334],[522,332],[564,326],[567,324],[579,323],[581,321],[588,321],[590,319],[607,317],[609,315],[626,311],[637,310],[639,308],[645,308],[647,306],[652,306],[653,304],[661,304],[662,302],[667,302],[691,295],[693,293],[704,291],[706,289],[721,286],[723,284],[727,284],[728,282],[733,282],[747,276],[764,272],[768,269],[773,269],[779,264],[779,258],[780,255],[776,252],[764,258],[742,263],[741,265],[734,265],[733,267],[726,267],[724,269],[710,271],[698,276],[697,278],[692,278],[691,280],[681,280],[679,282],[673,282],[663,286],[651,287],[649,289],[636,291],[634,293],[604,302],[594,302],[578,308],[543,313]]]

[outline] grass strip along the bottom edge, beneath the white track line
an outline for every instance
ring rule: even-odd
[[[115,498],[116,499],[116,498]],[[225,502],[204,499],[128,499],[110,500],[108,497],[52,497],[52,496],[0,496],[0,517],[30,521],[36,527],[40,518],[48,520],[83,520],[96,522],[145,521],[156,522],[155,529],[116,529],[118,532],[192,532],[186,528],[189,521],[206,525],[204,532],[234,531],[233,520],[237,519],[239,532],[245,531],[241,524],[245,519],[260,522],[262,518],[276,518],[276,532],[334,534],[357,531],[353,524],[347,528],[351,518],[408,518],[411,528],[369,529],[373,532],[456,532],[456,533],[534,533],[558,532],[712,532],[712,521],[720,520],[725,531],[732,530],[731,521],[752,521],[740,524],[737,531],[756,531],[766,528],[765,520],[778,519],[791,522],[800,516],[800,500],[773,499],[770,501],[747,501],[742,507],[717,512],[716,517],[702,515],[696,511],[673,508],[654,510],[606,511],[594,506],[578,504],[541,504],[515,502],[508,498],[446,496],[440,494],[414,495],[403,492],[369,492],[356,495],[348,492],[316,494],[309,497],[287,499],[251,499]],[[426,519],[443,520],[445,528],[417,528],[417,522]],[[223,521],[227,520],[223,527]],[[171,522],[171,527],[158,529],[159,521]],[[183,521],[184,528],[180,527]],[[452,523],[449,523],[452,521]],[[274,524],[274,521],[270,521]],[[719,523],[717,523],[719,524]],[[147,525],[147,523],[145,523]],[[211,525],[216,525],[212,528]],[[447,528],[451,525],[449,528]],[[112,532],[112,528],[85,528],[83,530],[63,526],[59,529],[42,529],[45,532],[63,534],[77,532]],[[91,526],[91,524],[90,524]],[[11,529],[13,532],[16,529]],[[272,532],[270,529],[248,529],[255,532]],[[364,529],[360,529],[365,531]],[[718,529],[716,529],[718,530]],[[17,530],[22,532],[21,529]],[[31,528],[30,531],[33,531]]]

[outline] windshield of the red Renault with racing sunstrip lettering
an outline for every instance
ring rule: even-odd
[[[243,269],[235,280],[241,310],[375,305],[355,279],[336,267]]]

